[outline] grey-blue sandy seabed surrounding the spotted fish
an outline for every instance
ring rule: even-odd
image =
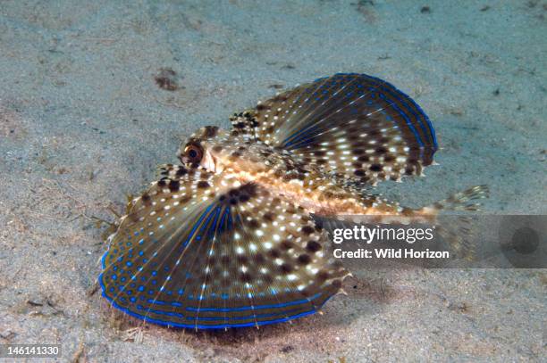
[[[0,343],[80,361],[522,360],[545,356],[544,269],[370,270],[324,315],[224,332],[147,325],[97,292],[111,210],[197,128],[337,72],[433,122],[439,166],[375,190],[411,206],[486,184],[545,214],[547,2],[0,2]],[[544,358],[543,358],[544,359]]]

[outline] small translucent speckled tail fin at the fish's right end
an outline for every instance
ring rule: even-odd
[[[440,202],[426,206],[421,211],[428,214],[437,214],[441,210],[476,211],[479,210],[481,205],[476,201],[487,198],[488,192],[488,186],[473,186],[463,192],[452,194]],[[436,231],[446,243],[449,243],[452,252],[459,258],[474,260],[475,243],[473,236],[475,235],[475,226],[473,218],[458,216],[456,219],[450,219],[450,223],[442,223],[442,219],[437,220]]]

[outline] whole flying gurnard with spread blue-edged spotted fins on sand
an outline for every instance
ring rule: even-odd
[[[130,201],[98,277],[124,313],[162,326],[228,329],[313,314],[341,293],[316,216],[434,217],[475,210],[485,186],[411,209],[368,192],[433,163],[433,125],[390,83],[339,73],[200,128],[180,164]],[[452,238],[458,247],[461,241]]]

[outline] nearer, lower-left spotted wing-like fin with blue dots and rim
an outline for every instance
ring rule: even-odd
[[[166,165],[110,238],[99,277],[115,308],[196,329],[316,312],[347,275],[307,212],[264,188]]]

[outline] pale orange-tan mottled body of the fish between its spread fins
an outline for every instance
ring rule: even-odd
[[[222,173],[237,185],[256,184],[286,200],[294,201],[308,212],[322,217],[342,215],[408,214],[398,203],[384,201],[344,185],[298,154],[254,140],[238,131],[228,132],[213,126],[202,128],[183,144],[198,145],[205,153],[200,166]]]

